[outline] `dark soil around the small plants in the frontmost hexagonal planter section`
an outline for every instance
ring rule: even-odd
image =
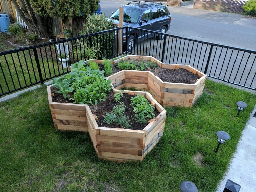
[[[125,106],[127,107],[125,110],[125,116],[128,116],[131,120],[131,122],[130,122],[131,128],[130,129],[143,130],[147,126],[147,123],[141,125],[141,124],[133,121],[134,113],[133,113],[133,108],[130,105],[131,97],[134,97],[134,96],[124,93],[124,97],[121,99],[121,102],[124,102]],[[91,109],[91,112],[93,114],[97,115],[97,117],[98,117],[97,124],[100,127],[116,128],[116,127],[120,127],[120,126],[117,126],[116,123],[113,123],[113,124],[105,123],[105,122],[103,122],[103,120],[104,120],[104,116],[106,115],[106,113],[107,112],[111,113],[113,106],[119,105],[119,104],[120,104],[119,102],[116,103],[114,101],[114,93],[109,92],[107,94],[106,101],[100,101],[97,105],[93,105],[93,106],[89,105],[89,107]],[[154,109],[154,114],[155,114],[155,116],[157,116],[159,114],[159,112],[156,109]],[[150,119],[148,119],[148,120],[150,120]]]

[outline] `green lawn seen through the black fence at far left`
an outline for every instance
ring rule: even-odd
[[[1,34],[0,41],[4,41],[4,37],[6,37],[6,34]],[[14,48],[15,47],[10,44],[4,44],[3,42],[0,43],[1,51],[11,50]],[[37,48],[37,53],[43,79],[67,72],[67,69],[62,68],[62,63],[57,61],[55,48],[53,45],[51,46],[51,50],[49,46],[46,48],[41,47],[42,57],[39,48]],[[71,60],[69,61],[69,64],[70,62]],[[4,93],[8,92],[9,90],[11,91],[20,87],[24,87],[26,84],[30,85],[40,81],[37,64],[35,62],[32,49],[26,50],[24,52],[20,51],[18,54],[8,54],[5,57],[0,56],[0,63],[0,82]],[[9,90],[6,82],[9,86]],[[2,91],[0,89],[0,94],[1,93]]]

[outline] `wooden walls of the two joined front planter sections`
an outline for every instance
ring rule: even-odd
[[[123,91],[129,95],[144,95],[159,114],[143,130],[99,127],[89,105],[53,102],[54,87],[48,86],[48,99],[54,126],[59,130],[89,132],[94,149],[101,159],[112,161],[142,161],[163,135],[166,110],[148,93]],[[113,92],[118,92],[112,87]]]

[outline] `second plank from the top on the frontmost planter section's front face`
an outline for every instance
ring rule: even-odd
[[[139,145],[139,139],[130,138],[130,137],[115,137],[115,136],[96,135],[96,140],[97,141],[129,143],[129,144]]]

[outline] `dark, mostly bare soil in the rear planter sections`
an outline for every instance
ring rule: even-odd
[[[129,63],[134,62],[137,63],[138,66],[141,63],[141,60],[139,59],[127,59]],[[151,61],[144,61],[146,62],[151,62]],[[186,69],[162,69],[157,65],[157,67],[153,68],[153,62],[151,62],[151,67],[150,68],[145,68],[143,71],[150,71],[156,76],[158,76],[161,80],[164,82],[171,82],[171,83],[187,83],[187,84],[194,84],[196,83],[196,80],[200,78],[198,74],[193,74]],[[117,63],[118,64],[118,63]],[[113,65],[113,68],[117,68],[117,64]],[[120,71],[117,68],[118,71]],[[116,72],[113,72],[116,73]]]

